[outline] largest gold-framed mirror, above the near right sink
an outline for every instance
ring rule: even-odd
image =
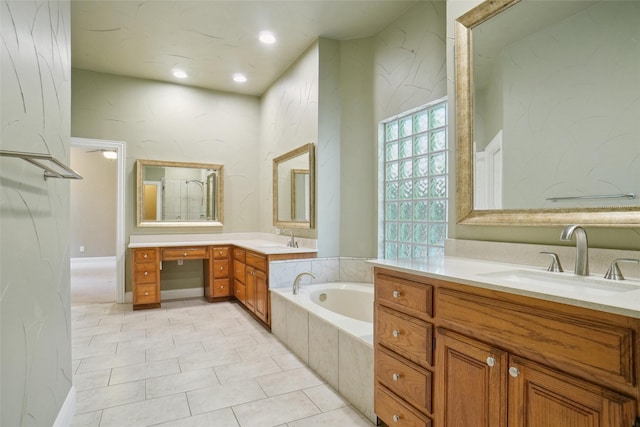
[[[640,225],[640,3],[486,1],[456,21],[457,220]]]

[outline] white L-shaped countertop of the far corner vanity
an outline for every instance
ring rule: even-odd
[[[273,237],[271,237],[273,236]],[[132,234],[129,248],[168,248],[176,246],[233,245],[263,255],[282,255],[318,252],[315,247],[290,248],[288,236],[264,233],[229,234]],[[309,239],[298,239],[308,241]]]

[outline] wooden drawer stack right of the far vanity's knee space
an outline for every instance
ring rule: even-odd
[[[210,246],[209,259],[204,260],[204,290],[209,302],[223,301],[233,296],[231,248]]]

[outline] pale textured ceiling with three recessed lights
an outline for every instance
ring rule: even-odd
[[[417,1],[72,0],[72,65],[262,95],[318,37],[372,36]],[[258,41],[263,30],[276,44]],[[235,83],[234,73],[248,81]]]

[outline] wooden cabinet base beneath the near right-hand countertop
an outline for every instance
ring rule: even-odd
[[[434,427],[640,426],[639,319],[379,268],[375,282],[375,411],[388,425],[402,425],[404,411]],[[428,298],[398,304],[414,285],[432,293],[431,319],[420,314]],[[392,307],[432,324],[432,365],[382,335]],[[410,330],[396,324],[406,339]],[[393,402],[404,407],[389,415]]]

